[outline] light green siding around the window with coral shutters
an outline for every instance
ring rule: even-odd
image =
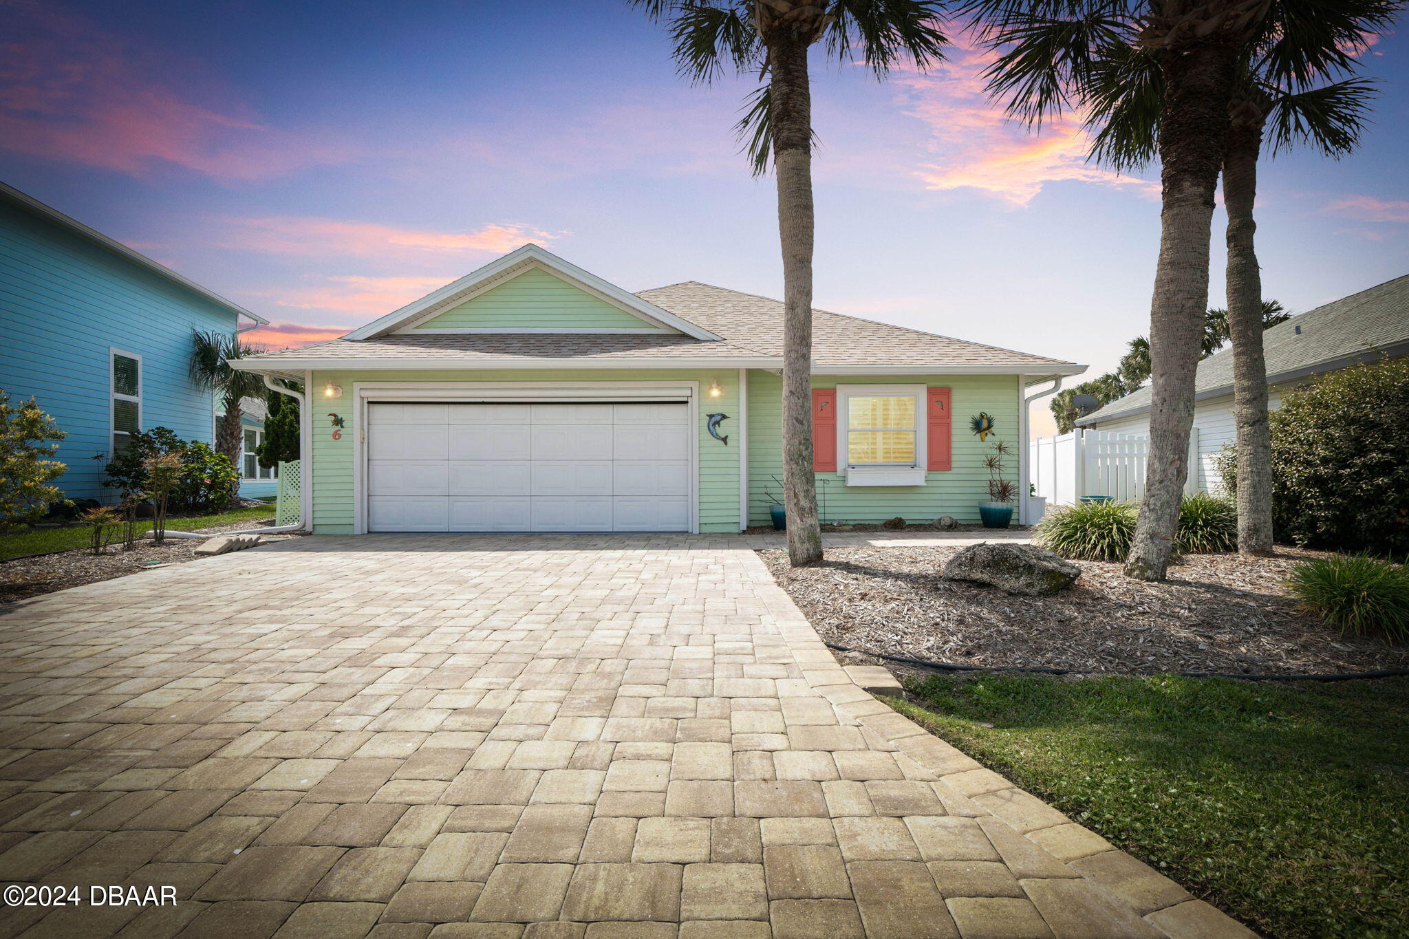
[[[896,515],[907,522],[931,522],[952,515],[961,522],[976,522],[978,504],[988,498],[988,470],[981,443],[968,427],[969,417],[986,411],[993,417],[996,438],[1013,448],[1005,476],[1017,481],[1017,376],[816,376],[813,387],[838,384],[926,384],[952,390],[954,462],[948,472],[933,472],[924,486],[847,486],[840,473],[817,473],[817,508],[824,522],[881,522]],[[840,455],[838,455],[840,456]],[[748,519],[751,525],[768,522],[769,501],[764,490],[782,498],[782,377],[751,370],[748,373]]]

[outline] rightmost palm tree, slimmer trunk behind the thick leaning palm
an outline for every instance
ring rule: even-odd
[[[1358,65],[1367,38],[1394,20],[1399,0],[1346,0],[1341,4],[1286,1],[1272,7],[1261,31],[1244,46],[1230,89],[1229,137],[1223,153],[1227,210],[1227,308],[1209,310],[1202,355],[1233,341],[1233,410],[1237,424],[1239,550],[1272,548],[1272,466],[1267,420],[1267,365],[1262,331],[1289,318],[1262,298],[1253,206],[1264,138],[1272,153],[1309,144],[1333,158],[1360,141],[1372,84],[1341,77]],[[1116,48],[1088,73],[1089,125],[1099,128],[1092,156],[1117,169],[1154,158],[1161,134],[1162,73],[1143,49]]]

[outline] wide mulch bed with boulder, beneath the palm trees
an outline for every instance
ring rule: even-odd
[[[1322,552],[1191,555],[1164,583],[1078,560],[1053,597],[938,577],[960,548],[840,548],[790,569],[759,552],[823,639],[893,656],[1076,672],[1341,673],[1409,667],[1409,648],[1341,636],[1295,610],[1282,581]],[[895,667],[886,663],[889,667]]]

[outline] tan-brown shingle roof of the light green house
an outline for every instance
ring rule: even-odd
[[[613,334],[454,334],[385,335],[372,339],[333,339],[256,356],[279,359],[776,359],[783,351],[783,304],[697,282],[671,284],[635,294],[682,320],[723,336],[723,341],[685,335]],[[1071,362],[951,339],[826,310],[813,311],[813,362],[819,366],[940,365],[993,366],[1014,372],[1071,369]]]

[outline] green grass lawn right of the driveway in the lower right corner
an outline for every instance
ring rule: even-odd
[[[924,707],[898,710],[1265,936],[1409,935],[1409,679],[906,687]]]

